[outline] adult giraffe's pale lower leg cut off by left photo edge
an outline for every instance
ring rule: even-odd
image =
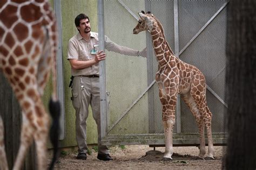
[[[0,115],[0,169],[8,169],[8,163],[4,145],[4,124]]]

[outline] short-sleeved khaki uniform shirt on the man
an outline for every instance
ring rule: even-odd
[[[89,41],[86,41],[80,33],[76,34],[69,40],[68,59],[91,60],[96,54],[92,54],[93,45],[98,44],[98,33],[91,32]],[[72,76],[80,75],[99,75],[99,63],[86,67],[84,69],[71,68]]]

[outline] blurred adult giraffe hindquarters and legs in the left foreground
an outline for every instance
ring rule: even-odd
[[[8,79],[22,109],[21,144],[14,169],[22,168],[33,140],[38,169],[46,169],[50,117],[41,97],[52,70],[52,101],[57,102],[55,15],[45,0],[1,0],[0,13],[0,70]],[[8,169],[3,136],[1,119],[0,167]]]

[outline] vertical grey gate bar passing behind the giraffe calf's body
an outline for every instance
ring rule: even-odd
[[[179,25],[178,25],[178,0],[174,0],[174,53],[179,58]],[[181,133],[181,109],[180,109],[180,95],[177,96],[176,104],[176,125],[177,133]]]

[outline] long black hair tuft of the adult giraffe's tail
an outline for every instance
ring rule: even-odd
[[[53,156],[49,169],[53,169],[56,160],[59,157],[59,117],[60,104],[58,101],[53,101],[52,98],[49,103],[49,111],[52,117],[52,124],[50,128],[50,140],[53,146]]]

